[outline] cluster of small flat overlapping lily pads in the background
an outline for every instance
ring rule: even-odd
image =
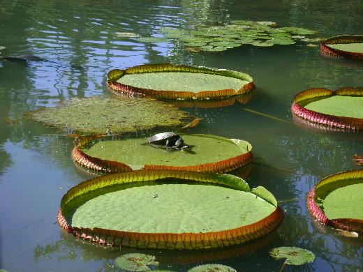
[[[235,20],[231,24],[221,26],[195,26],[192,30],[164,27],[162,37],[133,37],[142,43],[168,43],[176,39],[186,50],[225,51],[241,45],[269,47],[273,45],[293,45],[298,40],[306,43],[320,41],[320,38],[306,38],[316,31],[300,27],[277,28],[275,22],[254,22]]]

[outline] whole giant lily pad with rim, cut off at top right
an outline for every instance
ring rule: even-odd
[[[321,42],[320,52],[325,56],[363,60],[363,35],[328,38]]]

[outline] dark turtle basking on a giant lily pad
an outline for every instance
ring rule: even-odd
[[[158,133],[147,138],[147,142],[152,146],[163,146],[165,149],[183,150],[189,147],[184,143],[182,136],[175,133]]]

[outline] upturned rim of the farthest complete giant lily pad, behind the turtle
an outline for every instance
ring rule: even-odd
[[[158,73],[158,72],[180,72],[180,73],[204,73],[210,75],[222,75],[225,77],[234,77],[239,80],[249,82],[244,84],[238,91],[234,89],[223,89],[213,91],[199,91],[195,93],[193,91],[161,91],[154,89],[144,89],[136,86],[121,84],[117,82],[124,75],[131,75],[136,73]],[[114,69],[110,70],[107,79],[108,87],[113,91],[119,91],[121,93],[127,93],[136,96],[147,96],[162,99],[185,99],[185,100],[205,100],[205,99],[223,99],[231,96],[237,96],[239,94],[250,93],[255,89],[253,79],[251,76],[227,69],[207,68],[202,66],[185,66],[175,65],[172,63],[156,63],[145,64],[140,66],[133,66],[126,68],[125,70]]]

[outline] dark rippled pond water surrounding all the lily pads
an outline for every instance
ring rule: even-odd
[[[363,154],[362,136],[306,130],[292,122],[290,106],[295,93],[305,89],[362,86],[362,62],[325,58],[319,47],[306,43],[195,53],[172,42],[142,43],[115,33],[161,36],[161,27],[253,20],[314,29],[316,36],[328,38],[362,34],[362,14],[362,0],[2,0],[0,47],[6,48],[1,55],[34,54],[46,61],[0,60],[0,269],[117,271],[116,257],[146,252],[156,256],[161,269],[172,271],[210,262],[237,271],[278,271],[283,261],[269,257],[269,250],[296,246],[311,250],[316,260],[286,271],[361,271],[362,237],[346,238],[317,224],[305,197],[324,176],[358,168],[352,157]],[[256,89],[246,104],[184,110],[203,118],[193,133],[251,142],[254,159],[246,180],[270,190],[285,212],[274,234],[228,250],[165,252],[105,248],[77,240],[57,225],[61,197],[90,176],[71,160],[71,137],[24,114],[68,98],[110,95],[109,70],[163,62],[253,77]]]

